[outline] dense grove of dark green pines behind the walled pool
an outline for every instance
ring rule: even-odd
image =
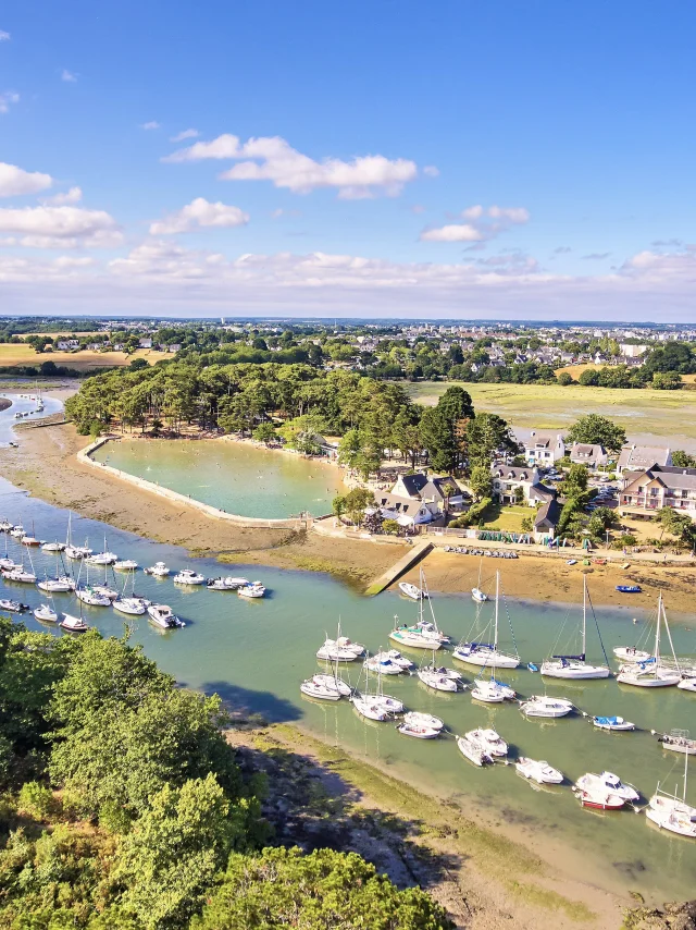
[[[475,414],[470,395],[449,388],[435,407],[413,404],[403,388],[355,371],[307,364],[209,364],[201,359],[136,359],[128,369],[88,379],[66,403],[80,432],[130,428],[241,431],[269,442],[278,435],[294,448],[314,451],[316,436],[343,437],[340,454],[369,474],[384,450],[438,472],[467,469],[499,448],[517,451],[508,425]]]

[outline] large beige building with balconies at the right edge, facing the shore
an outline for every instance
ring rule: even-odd
[[[654,465],[624,476],[619,513],[652,516],[662,507],[685,513],[696,522],[696,468]]]

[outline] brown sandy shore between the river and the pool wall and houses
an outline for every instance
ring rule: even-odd
[[[274,565],[328,572],[364,589],[402,554],[399,546],[366,539],[323,537],[287,528],[237,526],[210,518],[185,505],[133,487],[80,463],[76,453],[88,444],[71,424],[17,431],[20,449],[0,449],[0,468],[16,487],[57,506],[101,519],[161,542],[186,547],[192,553],[215,554],[222,562]],[[484,582],[496,568],[510,598],[577,603],[585,574],[596,605],[647,609],[662,590],[668,610],[693,611],[696,570],[692,565],[618,562],[569,566],[564,558],[525,553],[518,560],[493,560],[444,552],[436,548],[424,567],[432,590],[460,592]],[[602,554],[601,552],[599,553]],[[625,564],[625,563],[623,563]],[[418,568],[406,578],[418,580]],[[622,595],[620,584],[638,584],[639,595]]]

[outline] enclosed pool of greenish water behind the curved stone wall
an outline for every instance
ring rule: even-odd
[[[125,439],[107,443],[95,458],[241,516],[320,516],[346,491],[339,469],[325,462],[231,440]]]

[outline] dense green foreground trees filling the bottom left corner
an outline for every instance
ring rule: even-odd
[[[356,854],[276,845],[227,723],[124,640],[0,617],[0,927],[452,926]]]

